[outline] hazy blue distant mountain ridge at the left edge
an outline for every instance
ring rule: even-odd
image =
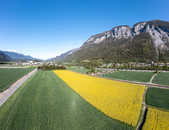
[[[10,51],[0,51],[0,61],[30,61],[30,60],[39,60],[31,56],[24,54],[10,52]]]

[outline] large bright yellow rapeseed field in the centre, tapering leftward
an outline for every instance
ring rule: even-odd
[[[68,70],[55,73],[87,102],[107,116],[136,126],[144,86],[92,77]]]

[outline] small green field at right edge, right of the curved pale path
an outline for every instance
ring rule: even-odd
[[[169,85],[169,72],[160,72],[153,80],[153,83]]]

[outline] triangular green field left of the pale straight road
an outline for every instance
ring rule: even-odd
[[[32,70],[33,68],[0,68],[0,92]]]

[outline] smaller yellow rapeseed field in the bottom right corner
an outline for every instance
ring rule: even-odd
[[[169,130],[169,112],[148,108],[143,130]]]

